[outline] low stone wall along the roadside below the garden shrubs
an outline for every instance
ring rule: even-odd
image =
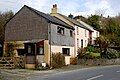
[[[120,59],[78,59],[79,65],[120,65]]]

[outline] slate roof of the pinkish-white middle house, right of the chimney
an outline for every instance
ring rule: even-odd
[[[81,24],[80,22],[78,22],[78,21],[76,21],[76,20],[74,20],[74,19],[71,19],[71,18],[69,18],[69,17],[67,17],[67,16],[65,16],[65,15],[60,14],[60,13],[58,13],[58,14],[61,15],[62,17],[64,17],[64,18],[66,18],[68,21],[72,22],[73,24],[81,27],[81,28],[84,28],[84,29],[93,31],[93,29],[89,28],[88,26],[86,26],[86,25],[84,25],[84,24]]]

